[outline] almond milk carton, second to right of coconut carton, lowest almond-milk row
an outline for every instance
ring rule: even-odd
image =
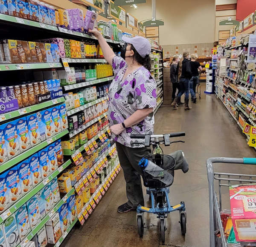
[[[26,202],[26,207],[28,210],[29,223],[33,230],[41,221],[37,196],[33,196],[28,202]]]

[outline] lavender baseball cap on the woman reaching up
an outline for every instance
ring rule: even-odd
[[[136,36],[133,38],[128,37],[122,37],[122,40],[128,44],[132,44],[136,51],[140,54],[141,57],[145,57],[146,55],[149,55],[151,52],[151,45],[149,41],[141,36]]]

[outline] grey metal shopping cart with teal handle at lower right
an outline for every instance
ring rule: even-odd
[[[255,158],[223,158],[214,157],[206,161],[207,178],[209,184],[209,209],[210,209],[210,247],[227,247],[227,238],[221,222],[221,187],[237,184],[255,183],[256,175],[218,173],[214,172],[214,163],[232,163],[256,165]],[[214,189],[214,179],[218,181],[218,192]],[[215,236],[220,233],[220,237]]]

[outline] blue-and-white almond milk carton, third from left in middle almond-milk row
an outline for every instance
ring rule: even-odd
[[[29,160],[25,159],[17,165],[20,178],[20,187],[22,196],[25,196],[33,188],[32,177],[30,172]]]

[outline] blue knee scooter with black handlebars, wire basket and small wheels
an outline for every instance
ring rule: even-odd
[[[143,213],[154,213],[157,214],[159,219],[159,226],[161,232],[161,241],[165,241],[165,230],[166,230],[166,218],[169,213],[179,210],[180,211],[180,228],[181,233],[186,234],[186,211],[185,203],[180,202],[175,206],[170,205],[169,201],[169,186],[172,185],[174,179],[175,170],[175,159],[172,156],[164,155],[160,144],[169,146],[170,137],[185,136],[185,132],[180,133],[170,133],[164,135],[134,135],[131,134],[131,138],[145,139],[144,144],[146,146],[153,145],[153,150],[151,155],[147,155],[144,158],[150,160],[154,164],[158,165],[162,170],[154,170],[150,173],[141,169],[144,186],[147,187],[147,194],[151,198],[151,208],[143,207],[141,205],[137,206],[137,224],[138,233],[143,236],[144,233],[144,223],[143,223]],[[163,139],[160,139],[163,138]],[[182,141],[175,141],[182,142]],[[139,143],[136,143],[139,144]],[[143,160],[143,159],[142,159]],[[139,163],[140,164],[140,163]]]

